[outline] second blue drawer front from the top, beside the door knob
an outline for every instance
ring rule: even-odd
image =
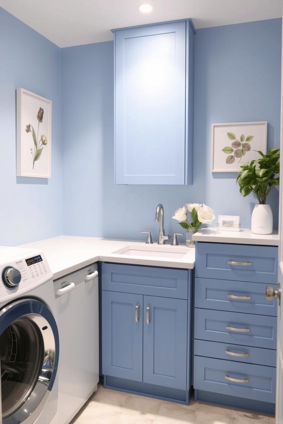
[[[195,279],[195,307],[277,316],[277,298],[266,300],[265,285],[254,282]],[[273,285],[277,290],[277,285]]]

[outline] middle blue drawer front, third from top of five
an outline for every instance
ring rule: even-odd
[[[200,340],[276,349],[276,317],[195,308],[194,329]]]

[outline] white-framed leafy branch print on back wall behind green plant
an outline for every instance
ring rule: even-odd
[[[267,121],[212,124],[211,172],[239,172],[261,158],[256,150],[266,154],[266,139]]]

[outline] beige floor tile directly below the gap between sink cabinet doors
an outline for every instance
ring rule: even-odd
[[[139,414],[153,420],[162,402],[160,399],[149,398],[147,396],[131,395],[124,405],[122,412]]]

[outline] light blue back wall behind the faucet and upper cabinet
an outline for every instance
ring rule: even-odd
[[[240,195],[236,173],[210,172],[211,124],[267,120],[267,147],[279,147],[280,70],[281,19],[197,30],[193,185],[115,185],[113,43],[62,49],[63,234],[141,239],[150,230],[157,240],[157,204],[173,234],[181,227],[171,217],[189,202],[250,228],[255,195]],[[268,201],[276,229],[277,188]]]

